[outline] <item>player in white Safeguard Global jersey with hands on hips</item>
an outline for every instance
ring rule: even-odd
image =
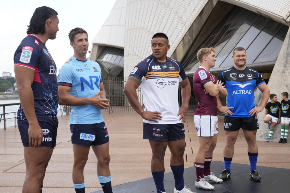
[[[186,112],[190,99],[190,83],[180,62],[166,57],[170,49],[168,37],[156,33],[151,40],[153,54],[137,64],[124,86],[131,106],[143,118],[143,139],[152,149],[151,172],[157,193],[165,192],[164,155],[171,152],[174,193],[192,193],[183,180]],[[138,101],[136,89],[141,86],[145,109]],[[178,87],[181,86],[182,106],[178,107]]]

